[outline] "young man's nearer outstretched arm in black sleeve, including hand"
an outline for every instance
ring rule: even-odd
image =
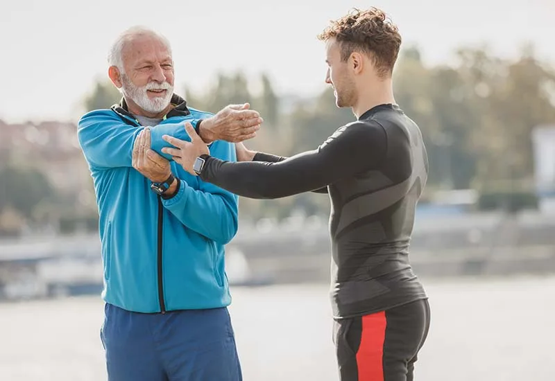
[[[194,134],[188,127],[189,134]],[[177,148],[164,148],[192,170],[194,157],[203,151],[194,136],[192,143],[164,138]],[[199,143],[200,141],[200,143]],[[273,199],[323,188],[364,170],[377,168],[386,154],[386,132],[377,123],[355,122],[341,127],[317,150],[303,152],[276,163],[242,161],[232,163],[203,155],[200,178],[244,197]]]

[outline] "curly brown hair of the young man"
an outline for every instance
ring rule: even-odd
[[[366,53],[373,59],[380,77],[391,76],[399,55],[401,35],[385,12],[372,7],[368,10],[354,8],[318,35],[326,41],[335,39],[341,46],[341,60],[348,60],[353,51]]]

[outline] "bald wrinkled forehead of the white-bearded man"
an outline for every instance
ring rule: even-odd
[[[171,61],[171,51],[163,39],[151,34],[130,37],[121,51],[121,59],[125,66],[137,62]]]

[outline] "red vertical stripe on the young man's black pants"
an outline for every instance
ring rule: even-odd
[[[357,352],[359,381],[384,381],[385,311],[362,317],[362,335]]]

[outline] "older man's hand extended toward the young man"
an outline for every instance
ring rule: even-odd
[[[216,140],[237,143],[253,139],[264,120],[249,107],[248,103],[224,107],[216,115],[200,123],[198,134],[205,143]]]

